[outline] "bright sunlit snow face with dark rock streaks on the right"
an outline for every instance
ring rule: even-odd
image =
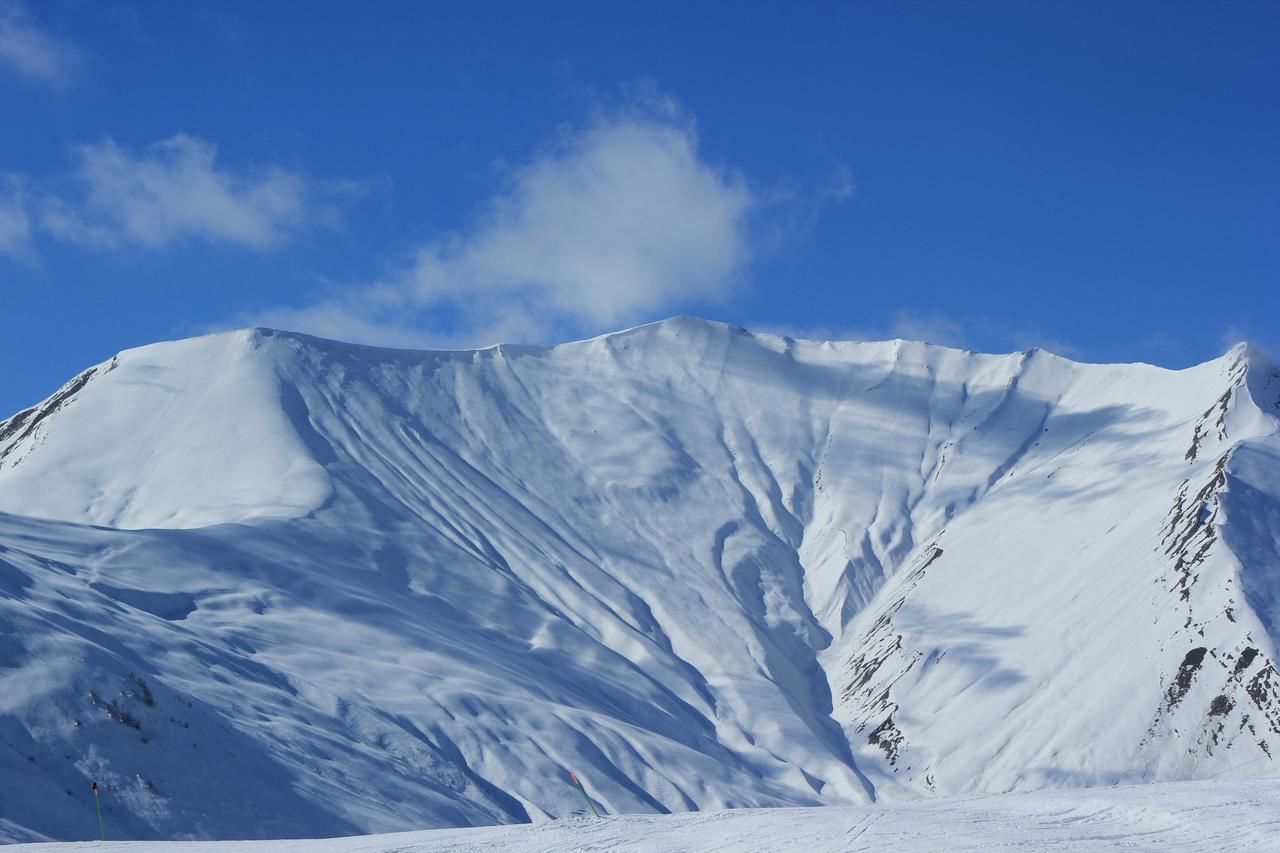
[[[1275,375],[1243,350],[1084,369],[827,657],[869,772],[972,792],[1268,766]]]

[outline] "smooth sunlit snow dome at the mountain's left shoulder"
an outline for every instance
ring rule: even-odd
[[[0,425],[0,512],[116,528],[292,517],[329,493],[255,332],[128,350]]]

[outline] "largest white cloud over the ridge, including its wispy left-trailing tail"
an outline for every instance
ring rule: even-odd
[[[251,319],[407,346],[545,339],[648,319],[739,284],[760,206],[662,101],[564,132],[507,172],[466,232],[416,247],[385,280]]]

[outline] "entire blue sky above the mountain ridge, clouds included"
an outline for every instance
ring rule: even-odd
[[[238,325],[1276,352],[1276,3],[0,0],[0,411]]]

